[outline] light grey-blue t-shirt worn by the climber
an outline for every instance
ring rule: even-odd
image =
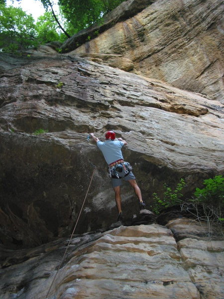
[[[123,142],[119,140],[106,140],[105,142],[98,141],[98,148],[103,152],[104,158],[108,164],[115,162],[119,159],[123,160],[121,148]]]

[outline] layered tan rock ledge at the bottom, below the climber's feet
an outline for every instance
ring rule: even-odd
[[[5,250],[1,299],[223,299],[224,241],[192,219],[120,226],[35,249]],[[22,263],[21,263],[22,262]]]

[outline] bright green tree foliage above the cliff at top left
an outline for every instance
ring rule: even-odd
[[[49,41],[63,42],[124,0],[58,0],[60,16],[54,12],[53,0],[36,1],[42,2],[46,12],[35,23],[32,15],[21,8],[7,7],[6,0],[0,0],[0,51],[17,53]]]

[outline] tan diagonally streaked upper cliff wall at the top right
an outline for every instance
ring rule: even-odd
[[[100,26],[84,30],[62,49],[223,101],[224,1],[146,2],[134,16],[103,33]],[[124,3],[139,6],[137,0]],[[94,37],[95,29],[101,34],[77,48],[81,36]]]

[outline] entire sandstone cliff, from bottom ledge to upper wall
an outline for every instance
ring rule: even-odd
[[[126,183],[116,227],[108,167],[87,140],[113,130],[127,141],[149,209],[164,182],[184,178],[189,196],[224,174],[223,10],[222,0],[128,0],[64,54],[0,53],[1,299],[46,298],[93,164],[48,299],[224,298],[220,233],[208,238],[186,213],[139,215]]]

